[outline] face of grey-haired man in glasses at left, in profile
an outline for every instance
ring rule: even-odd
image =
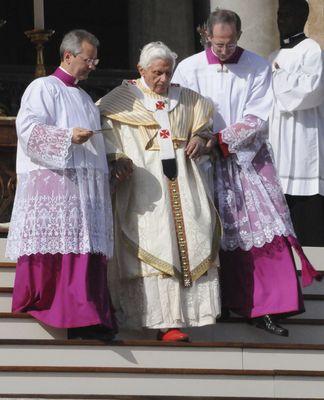
[[[97,48],[88,42],[82,42],[81,52],[76,56],[71,52],[64,54],[64,68],[79,81],[88,78],[90,72],[96,69]]]

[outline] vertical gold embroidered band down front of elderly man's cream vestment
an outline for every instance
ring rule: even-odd
[[[169,180],[168,183],[169,183],[169,193],[170,193],[171,207],[173,213],[173,220],[178,241],[182,282],[184,287],[190,287],[192,286],[192,278],[189,265],[188,245],[187,245],[186,231],[185,231],[182,208],[181,208],[178,179]]]

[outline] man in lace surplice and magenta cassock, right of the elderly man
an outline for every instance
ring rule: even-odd
[[[303,311],[292,256],[303,258],[304,283],[316,274],[295,238],[267,140],[271,68],[237,45],[239,16],[218,9],[208,21],[209,46],[182,61],[173,81],[212,99],[215,201],[223,222],[221,289],[224,309],[257,327],[287,336],[277,316]]]

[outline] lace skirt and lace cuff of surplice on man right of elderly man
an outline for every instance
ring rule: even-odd
[[[232,153],[216,161],[215,199],[224,227],[222,248],[250,250],[272,242],[275,235],[294,235],[266,139],[266,123],[248,115],[221,133]]]

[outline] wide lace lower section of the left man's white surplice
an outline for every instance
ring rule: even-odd
[[[18,175],[6,257],[113,253],[108,174],[95,169]]]

